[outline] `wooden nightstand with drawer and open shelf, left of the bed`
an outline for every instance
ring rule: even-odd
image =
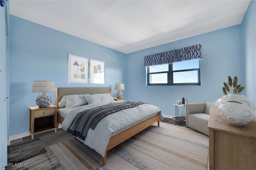
[[[57,106],[50,105],[49,107],[30,107],[30,119],[29,119],[29,132],[31,138],[34,138],[34,134],[51,130],[55,128],[55,133],[58,128],[57,123]]]

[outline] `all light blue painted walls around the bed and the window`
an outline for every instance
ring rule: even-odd
[[[31,93],[32,81],[55,81],[56,87],[112,87],[125,83],[127,100],[157,105],[162,114],[174,116],[176,103],[182,96],[192,101],[214,102],[223,96],[222,83],[228,75],[238,76],[246,86],[243,94],[255,104],[255,1],[250,2],[240,25],[166,43],[130,54],[59,32],[15,16],[10,16],[10,122],[9,135],[28,132],[29,109],[35,106],[37,93]],[[144,56],[202,45],[200,86],[146,86]],[[68,54],[105,61],[104,85],[68,84]],[[250,70],[249,70],[250,68]],[[42,71],[44,70],[44,71]],[[115,91],[112,91],[114,96]],[[56,104],[55,93],[49,93]],[[185,116],[184,108],[180,114]]]

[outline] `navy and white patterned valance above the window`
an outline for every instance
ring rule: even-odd
[[[192,45],[180,49],[173,49],[157,54],[151,54],[144,57],[144,66],[174,63],[178,61],[199,59],[201,55],[201,44]]]

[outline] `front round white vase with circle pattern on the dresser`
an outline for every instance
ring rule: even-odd
[[[218,108],[218,113],[228,124],[237,127],[250,123],[255,117],[254,110],[245,104],[236,102],[222,103]]]

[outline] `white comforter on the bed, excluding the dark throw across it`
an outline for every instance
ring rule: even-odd
[[[91,109],[94,107],[102,106],[108,104],[107,102],[102,103],[94,103],[90,105],[84,105],[77,107],[76,109],[70,109],[71,112],[68,113],[66,118],[62,123],[62,128],[67,130],[74,117],[76,117],[77,113],[84,111],[85,109]],[[95,127],[94,130],[91,128],[88,130],[88,134],[85,140],[81,140],[89,146],[90,148],[96,150],[102,157],[105,155],[106,147],[108,145],[108,141],[111,137],[112,132],[116,132],[122,128],[125,128],[133,123],[140,121],[154,113],[158,113],[161,110],[149,104],[139,105],[134,108],[125,109],[107,117],[103,118],[98,125]],[[162,115],[160,115],[162,119]]]

